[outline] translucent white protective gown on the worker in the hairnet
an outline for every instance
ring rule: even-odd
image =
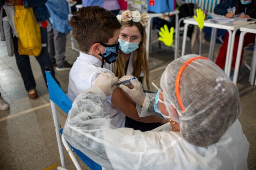
[[[110,119],[104,118],[105,98],[98,87],[80,93],[69,111],[63,135],[106,169],[248,169],[249,143],[238,120],[218,143],[198,147],[186,142],[180,132],[113,127]]]

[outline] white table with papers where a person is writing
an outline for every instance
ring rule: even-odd
[[[187,37],[187,30],[188,25],[198,25],[196,20],[194,18],[189,18],[184,20],[184,33],[183,33],[183,42],[182,42],[182,51],[181,56],[185,54],[185,48],[186,48],[186,37]],[[230,70],[231,70],[231,63],[232,63],[232,55],[233,55],[233,48],[234,48],[234,42],[235,42],[235,35],[236,31],[240,29],[240,27],[249,25],[247,22],[241,22],[241,21],[234,21],[232,22],[233,25],[226,25],[221,23],[211,23],[210,19],[204,21],[204,25],[206,27],[211,27],[211,42],[210,42],[210,49],[209,49],[209,59],[213,59],[213,51],[214,51],[214,45],[216,42],[216,36],[217,36],[217,29],[226,29],[229,33],[228,36],[228,45],[227,45],[227,55],[226,55],[226,61],[225,61],[225,74],[229,77],[230,76]]]

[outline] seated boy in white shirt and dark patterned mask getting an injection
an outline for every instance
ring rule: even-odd
[[[68,95],[73,102],[79,93],[92,87],[101,72],[111,72],[109,64],[116,61],[120,50],[121,25],[113,13],[97,6],[75,12],[70,25],[81,49],[69,74]],[[119,88],[103,101],[103,109],[105,117],[110,118],[111,124],[117,128],[125,127],[126,116],[139,122],[165,123],[157,116],[140,118],[136,103]]]

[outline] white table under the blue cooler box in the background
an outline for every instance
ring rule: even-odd
[[[171,12],[165,12],[165,13],[147,13],[149,16],[148,25],[146,27],[146,55],[147,59],[149,58],[149,50],[150,50],[150,37],[151,37],[151,31],[152,31],[152,24],[153,24],[153,18],[155,17],[161,17],[163,15],[175,15],[175,47],[177,50],[179,50],[179,10],[171,11]],[[177,59],[177,54],[174,52],[174,59]]]

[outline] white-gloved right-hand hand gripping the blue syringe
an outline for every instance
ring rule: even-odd
[[[133,78],[134,76],[123,76],[119,79],[119,82],[126,81],[128,79]],[[133,101],[138,103],[140,106],[143,106],[144,100],[145,100],[145,94],[142,89],[142,85],[139,82],[139,80],[136,78],[135,80],[131,80],[130,83],[132,84],[132,88],[130,89],[126,87],[125,85],[121,84],[120,88],[127,93]]]

